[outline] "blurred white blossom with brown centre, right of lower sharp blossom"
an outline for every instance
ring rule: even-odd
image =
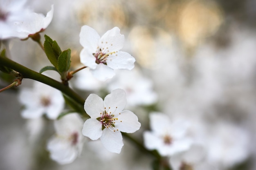
[[[192,140],[187,137],[188,123],[185,121],[171,121],[162,113],[151,113],[150,128],[144,132],[144,145],[149,150],[156,149],[162,156],[174,155],[188,150]]]

